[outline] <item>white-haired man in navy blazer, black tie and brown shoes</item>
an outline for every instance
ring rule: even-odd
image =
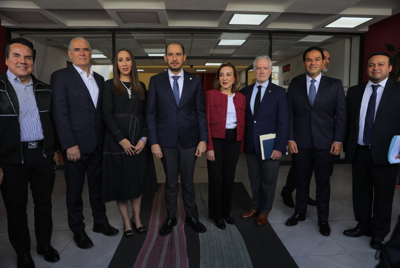
[[[256,57],[253,63],[256,83],[240,91],[246,96],[246,128],[244,153],[246,155],[252,192],[252,209],[243,213],[243,219],[257,218],[257,225],[268,221],[277,186],[280,157],[287,152],[289,108],[286,90],[268,81],[272,62],[268,56]],[[276,134],[274,151],[270,159],[262,160],[260,135]]]

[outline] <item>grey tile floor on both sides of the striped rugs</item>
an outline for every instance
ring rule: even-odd
[[[286,158],[289,156],[285,156]],[[165,182],[165,174],[160,160],[155,159],[158,181]],[[207,165],[205,157],[201,157],[196,163],[195,182],[207,182]],[[351,166],[346,164],[335,165],[331,177],[331,201],[329,224],[331,235],[322,236],[317,225],[316,207],[308,207],[307,217],[304,222],[297,226],[287,227],[285,221],[293,214],[294,209],[286,207],[280,197],[280,190],[286,181],[289,166],[281,166],[278,177],[277,189],[275,191],[274,206],[269,214],[268,221],[272,225],[286,249],[295,259],[300,268],[373,268],[377,264],[374,259],[375,250],[369,246],[370,238],[350,238],[342,234],[345,229],[356,226],[353,214]],[[240,155],[236,182],[242,182],[249,194],[250,182],[247,176],[247,165],[243,155]],[[315,180],[311,181],[311,197],[315,197]],[[115,202],[108,203],[107,216],[110,224],[118,229],[120,233],[116,236],[106,237],[94,233],[93,218],[89,204],[87,186],[84,188],[83,205],[86,223],[86,232],[91,237],[94,247],[91,249],[79,249],[73,241],[73,234],[68,229],[67,211],[65,205],[65,181],[62,171],[56,172],[56,184],[54,187],[53,202],[53,224],[54,231],[52,245],[60,252],[60,261],[48,263],[32,250],[32,257],[36,267],[74,267],[74,268],[106,268],[110,263],[115,250],[122,237],[122,221],[120,212]],[[294,195],[295,196],[295,193]],[[28,200],[28,221],[31,230],[31,248],[36,248],[34,234],[33,202],[30,196]],[[244,212],[244,211],[243,211]],[[396,225],[400,214],[400,189],[396,189],[392,212],[392,230]],[[263,231],[260,227],[260,231]],[[390,238],[391,234],[386,237]],[[8,240],[7,217],[3,200],[0,198],[0,268],[16,267],[17,256]]]

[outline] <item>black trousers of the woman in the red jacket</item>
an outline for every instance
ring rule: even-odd
[[[236,141],[237,130],[226,129],[225,138],[212,138],[215,162],[207,160],[208,168],[208,217],[221,220],[231,215],[233,182],[240,154]]]

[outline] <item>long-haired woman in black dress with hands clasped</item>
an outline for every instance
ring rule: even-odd
[[[117,201],[125,237],[132,228],[146,229],[140,221],[141,195],[157,192],[153,155],[148,153],[146,130],[146,88],[139,81],[135,58],[120,49],[113,64],[114,78],[103,88],[103,120],[107,127],[103,150],[102,202]],[[128,214],[131,201],[133,216]]]

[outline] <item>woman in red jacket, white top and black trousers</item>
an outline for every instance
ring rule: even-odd
[[[235,65],[220,65],[214,81],[216,89],[205,94],[208,143],[208,217],[220,229],[231,217],[233,182],[239,153],[243,152],[246,98],[239,93],[240,77]],[[224,219],[224,220],[223,220]]]

